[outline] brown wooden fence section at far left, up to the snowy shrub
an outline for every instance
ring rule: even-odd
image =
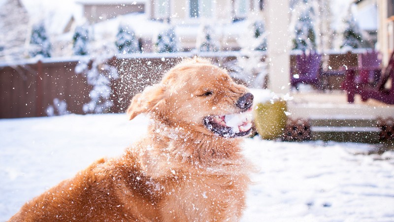
[[[68,110],[82,113],[91,87],[74,73],[77,61],[13,65],[1,68],[0,117],[45,116],[53,100],[66,100]]]

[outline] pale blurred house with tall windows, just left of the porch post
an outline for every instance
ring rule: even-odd
[[[263,18],[263,0],[148,0],[147,16],[175,27],[182,39],[180,48],[196,48],[196,37],[201,26],[208,24],[215,29],[215,36],[222,50],[239,49],[238,36],[245,32],[245,24],[236,24],[250,14]]]

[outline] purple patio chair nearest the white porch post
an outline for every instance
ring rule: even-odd
[[[319,73],[322,62],[322,55],[311,52],[296,55],[296,67],[291,67],[290,82],[292,87],[298,88],[299,83],[312,84],[320,88]]]

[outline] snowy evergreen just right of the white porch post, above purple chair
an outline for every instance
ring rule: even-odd
[[[308,5],[306,0],[296,6],[293,14],[294,38],[293,49],[315,50],[316,35],[314,30],[315,10],[312,5]]]

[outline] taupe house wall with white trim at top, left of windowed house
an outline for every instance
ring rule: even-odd
[[[79,0],[90,24],[119,15],[145,12],[145,0]]]

